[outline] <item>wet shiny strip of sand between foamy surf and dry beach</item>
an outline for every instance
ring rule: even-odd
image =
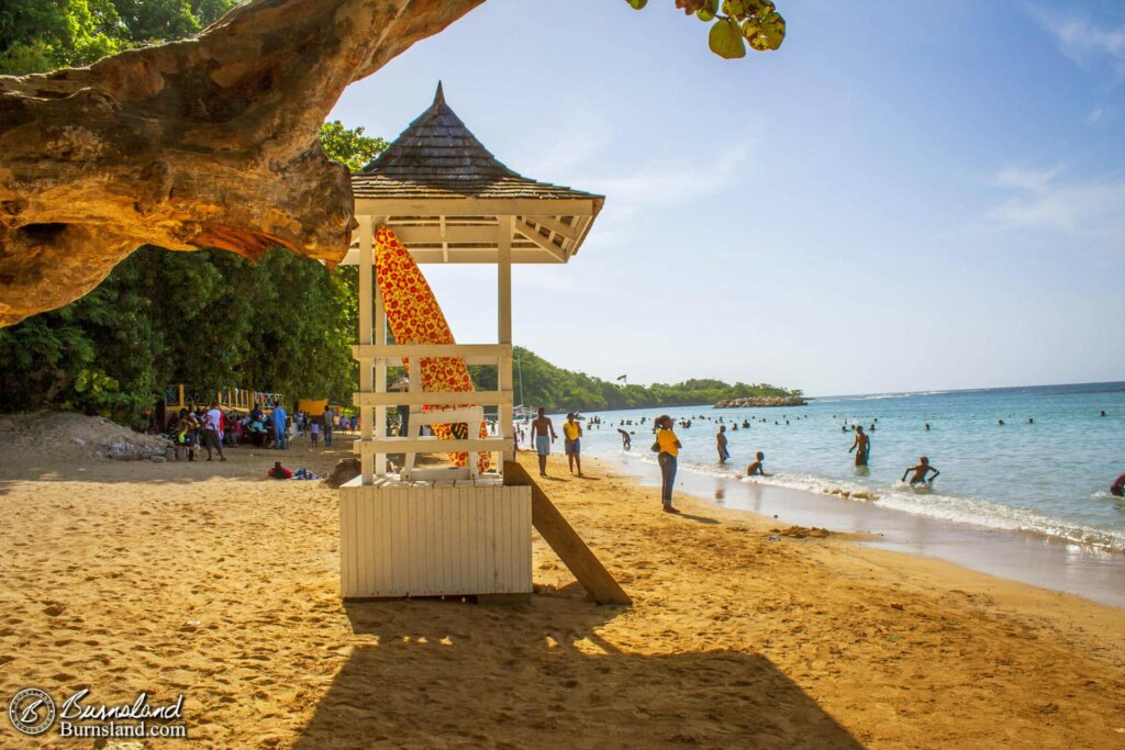
[[[637,478],[642,486],[659,486],[656,467],[639,458],[596,458]],[[872,549],[939,559],[1005,580],[1125,608],[1125,553],[1115,550],[1083,546],[1035,532],[933,518],[880,507],[878,501],[687,470],[677,472],[676,491],[763,518],[863,534],[866,539],[862,543]]]

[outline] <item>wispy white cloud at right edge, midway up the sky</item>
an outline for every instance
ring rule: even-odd
[[[1061,179],[1062,170],[1008,166],[996,184],[1012,191],[990,213],[1002,224],[1055,232],[1096,251],[1125,252],[1125,178]]]

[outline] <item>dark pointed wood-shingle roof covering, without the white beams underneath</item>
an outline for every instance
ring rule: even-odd
[[[539,198],[602,196],[537,182],[510,170],[485,148],[446,103],[441,83],[433,103],[363,171],[352,175],[357,199]]]

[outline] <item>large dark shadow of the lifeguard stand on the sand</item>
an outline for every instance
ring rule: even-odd
[[[622,607],[346,608],[357,643],[297,748],[861,747],[765,656],[615,649]]]

